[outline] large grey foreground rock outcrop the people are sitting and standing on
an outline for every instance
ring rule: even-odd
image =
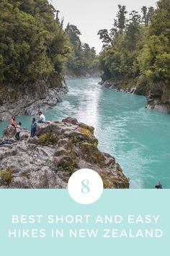
[[[14,127],[0,140],[0,188],[67,188],[68,179],[80,168],[92,168],[102,176],[104,188],[128,188],[129,181],[115,158],[97,148],[94,128],[68,117],[62,122],[39,124],[37,136],[23,129],[14,140]]]

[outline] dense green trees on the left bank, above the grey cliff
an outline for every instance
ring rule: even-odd
[[[91,71],[94,48],[74,25],[63,28],[47,0],[0,1],[0,82],[30,82]]]

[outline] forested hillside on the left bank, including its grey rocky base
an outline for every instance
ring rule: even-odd
[[[58,12],[48,0],[0,1],[0,121],[55,106],[65,74],[94,73],[94,48]]]

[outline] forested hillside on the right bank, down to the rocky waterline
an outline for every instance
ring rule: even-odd
[[[142,7],[141,14],[118,8],[112,29],[98,33],[103,82],[135,87],[135,93],[148,95],[151,108],[170,111],[170,0],[158,1],[155,10]]]

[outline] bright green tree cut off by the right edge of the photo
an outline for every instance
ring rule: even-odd
[[[148,81],[169,86],[170,76],[170,1],[161,0],[152,15],[149,36],[140,54],[141,73]]]

